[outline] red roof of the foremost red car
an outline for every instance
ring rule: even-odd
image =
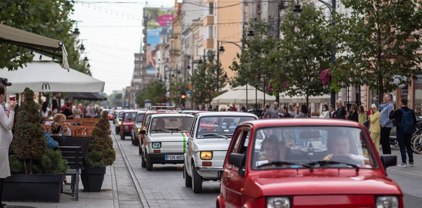
[[[342,120],[342,119],[261,119],[246,121],[243,124],[249,124],[253,128],[269,127],[269,126],[344,126],[344,127],[359,127],[362,128],[357,122]]]

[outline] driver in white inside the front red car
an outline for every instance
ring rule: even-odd
[[[331,153],[324,157],[324,160],[349,160],[349,161],[364,161],[368,160],[363,155],[351,154],[350,139],[347,136],[329,137],[328,151]],[[347,162],[347,161],[345,161]]]

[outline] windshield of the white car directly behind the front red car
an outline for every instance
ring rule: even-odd
[[[196,138],[232,138],[236,127],[245,121],[254,120],[248,116],[207,116],[199,119]]]

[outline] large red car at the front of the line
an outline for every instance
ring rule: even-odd
[[[325,119],[259,120],[236,128],[217,207],[403,207],[364,127]]]

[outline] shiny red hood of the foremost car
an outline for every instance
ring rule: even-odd
[[[401,194],[401,191],[390,178],[370,173],[305,175],[291,172],[279,175],[270,171],[249,178],[245,183],[245,194],[257,198],[271,195]]]

